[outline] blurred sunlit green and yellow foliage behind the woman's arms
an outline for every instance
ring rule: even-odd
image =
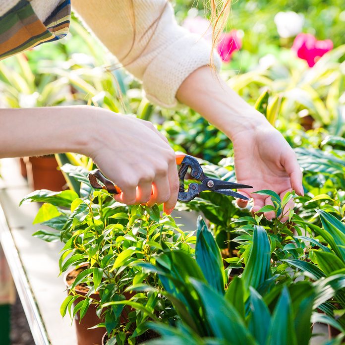
[[[173,1],[177,20],[208,17],[203,1]],[[294,37],[279,37],[275,15],[296,11],[302,31],[331,39],[334,49],[310,68],[291,50]],[[221,74],[247,102],[263,112],[287,138],[304,149],[322,145],[345,131],[345,10],[342,1],[234,1],[226,31],[240,33],[242,48],[223,63]],[[74,16],[70,34],[0,61],[0,106],[11,108],[89,104],[151,120],[175,150],[212,163],[232,155],[230,140],[190,109],[160,109],[142,94],[140,83]],[[302,157],[303,158],[303,157]]]

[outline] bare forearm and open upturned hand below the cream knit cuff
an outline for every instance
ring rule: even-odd
[[[204,66],[191,73],[178,89],[177,98],[233,142],[239,183],[252,185],[253,192],[271,189],[281,197],[292,188],[297,194],[303,194],[302,173],[287,141],[264,115],[241,99],[211,68]],[[241,190],[241,193],[254,199],[253,212],[271,203],[271,197],[249,190]],[[237,204],[245,207],[247,202],[238,200]],[[291,200],[288,208],[292,207]],[[268,212],[265,216],[271,219],[274,215]]]

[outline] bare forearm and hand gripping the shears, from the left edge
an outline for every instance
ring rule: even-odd
[[[0,158],[61,152],[93,158],[120,202],[165,203],[166,213],[176,204],[175,153],[152,123],[89,106],[1,110]]]

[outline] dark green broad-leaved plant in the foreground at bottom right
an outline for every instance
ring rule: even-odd
[[[151,324],[162,339],[149,344],[307,345],[315,320],[342,329],[334,319],[320,318],[314,311],[345,286],[344,276],[277,284],[269,237],[260,226],[254,227],[243,273],[232,280],[201,219],[195,258],[183,251],[166,251],[156,265],[142,266],[159,276],[160,293],[171,300],[180,318],[173,326]]]

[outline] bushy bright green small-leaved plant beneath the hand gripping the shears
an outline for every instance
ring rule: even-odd
[[[192,232],[183,232],[171,216],[161,217],[157,205],[125,206],[116,202],[107,191],[94,190],[87,180],[88,171],[81,167],[62,168],[81,182],[81,195],[66,190],[35,191],[22,202],[43,202],[34,223],[52,230],[39,230],[34,236],[46,241],[61,240],[60,273],[70,266],[87,264],[71,284],[69,294],[61,305],[61,314],[82,318],[90,304],[97,307],[100,325],[109,336],[116,335],[117,344],[136,343],[136,337],[148,330],[147,318],[170,318],[171,303],[160,300],[157,293],[129,294],[127,288],[136,284],[158,285],[155,275],[144,272],[139,263],[154,263],[164,250],[180,249],[192,252],[195,242]],[[81,296],[76,288],[87,288]],[[94,298],[94,294],[99,298]],[[131,300],[124,304],[109,302]],[[81,300],[72,309],[73,302]],[[131,311],[130,307],[137,307]],[[125,310],[127,318],[123,318]],[[122,317],[121,317],[122,314]],[[103,320],[103,322],[101,322]],[[96,326],[96,325],[95,325]]]

